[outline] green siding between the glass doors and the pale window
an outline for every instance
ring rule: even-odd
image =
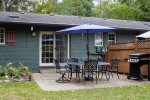
[[[96,53],[95,49],[95,35],[89,35],[89,51]],[[70,36],[70,57],[82,59],[87,57],[87,35],[86,34],[71,34]],[[97,58],[98,55],[90,55],[90,58]]]

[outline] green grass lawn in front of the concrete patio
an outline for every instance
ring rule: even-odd
[[[0,83],[0,100],[149,100],[150,85],[43,91],[34,82]]]

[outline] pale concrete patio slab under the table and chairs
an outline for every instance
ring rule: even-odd
[[[40,74],[34,73],[33,79],[34,81],[46,91],[60,91],[60,90],[78,90],[78,89],[88,89],[88,88],[103,88],[103,87],[119,87],[119,86],[128,86],[128,85],[140,85],[140,84],[148,84],[150,81],[144,79],[143,81],[137,80],[128,80],[127,75],[120,74],[120,79],[114,74],[113,78],[110,78],[109,81],[105,79],[98,79],[98,84],[96,81],[86,81],[84,84],[84,80],[81,79],[80,82],[76,83],[75,76],[69,83],[57,83],[56,80],[60,77],[60,74],[52,73],[52,74]]]

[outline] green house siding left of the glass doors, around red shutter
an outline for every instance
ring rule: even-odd
[[[6,30],[7,31],[7,30]],[[21,62],[31,67],[33,72],[38,72],[39,66],[39,36],[31,36],[27,30],[14,30],[16,43],[12,46],[0,46],[0,65],[8,62],[16,66]],[[7,34],[6,34],[7,39]]]

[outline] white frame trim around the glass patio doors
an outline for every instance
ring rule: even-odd
[[[54,33],[52,31],[40,31],[40,35],[39,35],[39,66],[40,67],[44,67],[44,66],[55,66],[54,63],[42,63],[42,60],[41,60],[41,57],[42,57],[42,53],[41,53],[41,49],[42,49],[42,34],[49,34],[49,33]],[[54,41],[55,41],[55,33],[54,33]],[[69,36],[69,35],[68,35]],[[67,57],[69,58],[69,48],[70,48],[70,37],[68,37],[68,47],[67,47],[67,50],[68,50],[68,54],[67,54]],[[54,42],[54,46],[53,46],[53,51],[54,51],[54,55],[53,55],[53,58],[55,59],[55,42]],[[60,63],[60,66],[64,66],[66,65],[66,63]]]

